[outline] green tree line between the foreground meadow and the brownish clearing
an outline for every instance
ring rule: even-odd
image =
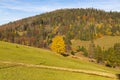
[[[120,43],[116,43],[113,47],[106,50],[99,45],[95,45],[94,42],[89,47],[90,49],[87,50],[83,46],[78,46],[76,52],[82,51],[86,57],[95,59],[96,61],[94,62],[104,64],[108,67],[115,68],[120,66]],[[75,55],[75,53],[72,55]]]

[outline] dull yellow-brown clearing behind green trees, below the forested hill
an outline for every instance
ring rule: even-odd
[[[75,49],[77,46],[84,46],[88,50],[90,43],[91,41],[72,40],[72,48]],[[120,36],[104,36],[94,40],[96,46],[99,45],[104,49],[113,47],[115,43],[120,43]]]

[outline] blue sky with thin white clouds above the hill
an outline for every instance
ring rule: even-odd
[[[0,0],[0,25],[64,8],[120,12],[120,0]]]

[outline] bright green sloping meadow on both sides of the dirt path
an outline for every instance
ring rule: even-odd
[[[119,70],[87,61],[63,57],[54,52],[0,41],[0,61],[42,64],[116,74]],[[0,80],[113,80],[95,75],[65,71],[27,68],[0,64]]]

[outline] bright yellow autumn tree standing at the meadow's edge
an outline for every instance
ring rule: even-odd
[[[55,36],[52,39],[52,44],[50,47],[53,51],[57,52],[57,53],[65,53],[66,49],[65,49],[65,42],[62,36]]]

